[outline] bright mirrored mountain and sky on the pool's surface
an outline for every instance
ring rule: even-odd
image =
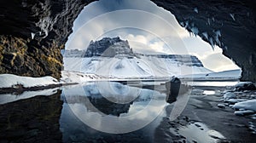
[[[63,142],[217,142],[217,138],[224,139],[202,123],[189,125],[187,120],[171,120],[176,103],[185,104],[183,99],[188,98],[185,94],[179,95],[176,103],[167,104],[166,94],[158,91],[102,82],[63,89],[61,97],[65,100],[60,119]],[[131,99],[135,100],[127,103]],[[198,124],[201,128],[196,130],[194,126]]]

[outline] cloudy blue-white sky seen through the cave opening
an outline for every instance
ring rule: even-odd
[[[198,11],[200,14],[200,11]],[[102,37],[128,40],[144,54],[193,54],[213,72],[238,69],[217,46],[179,26],[175,16],[149,0],[100,0],[85,6],[74,21],[66,49],[86,49]]]

